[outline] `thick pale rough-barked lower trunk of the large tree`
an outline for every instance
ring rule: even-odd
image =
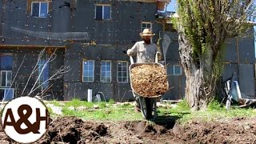
[[[178,36],[178,42],[180,58],[186,74],[185,98],[191,110],[206,109],[214,98],[217,79],[216,75],[214,76],[214,52],[209,45],[206,46],[206,54],[193,55],[190,42],[182,33]]]

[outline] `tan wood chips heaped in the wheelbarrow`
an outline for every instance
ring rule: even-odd
[[[135,66],[131,69],[130,78],[134,91],[143,97],[156,97],[165,94],[169,88],[166,67]]]

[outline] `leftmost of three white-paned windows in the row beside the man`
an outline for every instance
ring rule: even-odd
[[[94,61],[83,61],[82,82],[94,82]]]

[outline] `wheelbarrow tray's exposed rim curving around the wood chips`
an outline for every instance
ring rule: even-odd
[[[134,90],[134,87],[133,87],[132,81],[131,81],[131,69],[134,68],[134,67],[136,67],[136,66],[142,66],[142,65],[150,65],[150,66],[157,65],[157,66],[164,67],[162,64],[156,63],[156,62],[146,62],[146,63],[133,63],[133,64],[130,64],[130,66],[129,66],[129,72],[130,72],[130,87],[131,87],[131,90],[133,90],[134,96],[144,97],[144,98],[158,98],[158,97],[161,97],[162,94],[159,94],[159,95],[152,95],[152,96],[143,96],[143,95],[141,95],[141,94],[138,94],[138,92],[136,92],[136,91]]]

